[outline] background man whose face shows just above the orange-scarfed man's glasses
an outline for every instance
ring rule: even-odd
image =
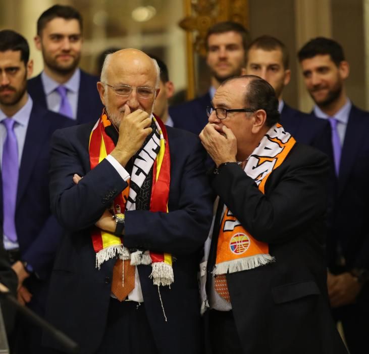
[[[170,107],[175,127],[199,134],[207,124],[206,107],[210,105],[220,84],[233,76],[245,73],[245,51],[248,31],[236,22],[219,22],[206,34],[206,63],[212,73],[209,91],[199,98]]]

